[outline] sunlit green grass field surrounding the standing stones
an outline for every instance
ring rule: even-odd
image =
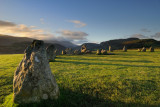
[[[60,88],[60,97],[54,105],[160,106],[160,50],[114,53],[60,55],[51,62]],[[13,74],[22,57],[18,54],[0,55],[1,106],[12,103]],[[51,102],[44,101],[43,104],[50,105]]]

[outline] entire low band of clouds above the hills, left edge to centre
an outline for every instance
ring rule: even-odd
[[[82,24],[83,25],[83,24]],[[36,26],[26,26],[24,24],[15,24],[13,22],[0,20],[0,34],[13,35],[18,37],[30,37],[42,40],[71,41],[78,43],[86,41],[87,33],[81,31],[62,30],[57,31],[60,36],[53,33],[46,33],[43,29],[37,29]]]

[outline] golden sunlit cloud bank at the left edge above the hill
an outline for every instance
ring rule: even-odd
[[[7,34],[18,37],[30,37],[35,39],[54,38],[53,34],[47,34],[43,29],[36,29],[35,26],[14,24],[13,22],[0,20],[0,34]]]

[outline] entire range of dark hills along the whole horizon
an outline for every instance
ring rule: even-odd
[[[31,44],[34,39],[27,37],[13,37],[8,35],[0,35],[0,54],[18,54],[23,53],[25,48]],[[128,49],[142,48],[143,46],[149,48],[150,46],[160,48],[160,41],[154,39],[115,39],[96,43],[84,43],[81,46],[77,46],[69,41],[54,41],[45,40],[46,47],[50,44],[54,44],[60,54],[62,50],[66,48],[81,49],[82,45],[86,45],[89,50],[107,49],[112,46],[112,49],[122,49],[125,45]]]

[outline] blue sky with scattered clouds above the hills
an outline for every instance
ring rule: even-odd
[[[0,34],[75,44],[160,40],[160,0],[0,0]]]

